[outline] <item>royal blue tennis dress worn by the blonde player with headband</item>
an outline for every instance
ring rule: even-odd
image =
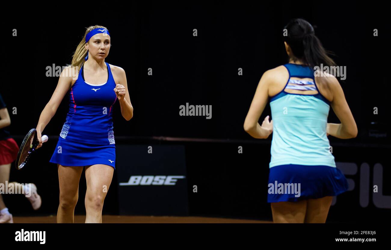
[[[84,65],[68,91],[69,111],[50,162],[62,166],[105,164],[115,168],[113,105],[116,83],[106,62],[108,79],[102,84],[84,81]]]

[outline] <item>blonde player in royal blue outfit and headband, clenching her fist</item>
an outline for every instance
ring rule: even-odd
[[[88,27],[59,77],[57,87],[38,121],[41,133],[66,93],[69,112],[50,162],[57,163],[60,187],[57,223],[73,223],[79,180],[85,167],[86,223],[102,223],[104,198],[115,169],[113,106],[118,99],[122,116],[133,117],[125,71],[105,62],[111,46],[106,27]],[[86,56],[87,55],[87,56]],[[77,77],[74,77],[77,76]]]

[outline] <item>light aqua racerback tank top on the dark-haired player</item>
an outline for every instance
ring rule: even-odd
[[[289,72],[287,84],[269,98],[273,119],[269,168],[285,164],[335,167],[326,135],[330,102],[317,89],[314,70],[299,64],[283,66]],[[317,94],[292,94],[285,89],[315,90]]]

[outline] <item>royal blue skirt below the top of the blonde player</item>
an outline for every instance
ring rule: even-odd
[[[61,151],[59,146],[61,146]],[[76,143],[59,137],[50,162],[58,163],[62,166],[105,164],[115,169],[115,144],[92,145]]]

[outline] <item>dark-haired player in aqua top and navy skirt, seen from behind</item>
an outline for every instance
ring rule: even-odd
[[[343,173],[335,166],[327,135],[353,138],[357,136],[357,125],[338,80],[315,70],[315,66],[335,63],[312,25],[294,19],[284,29],[289,63],[262,75],[244,129],[260,139],[273,133],[267,187],[273,221],[325,223],[332,196],[348,189]],[[268,100],[273,120],[269,122],[266,116],[259,125]],[[341,123],[327,123],[330,106]],[[285,189],[292,184],[296,189],[300,187],[300,194]]]

